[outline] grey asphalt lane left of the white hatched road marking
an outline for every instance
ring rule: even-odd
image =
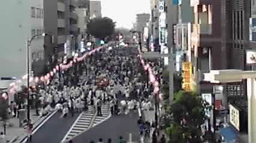
[[[56,113],[33,135],[31,143],[59,143],[64,138],[68,129],[73,125],[79,116],[78,113],[71,117],[60,118],[62,113]]]

